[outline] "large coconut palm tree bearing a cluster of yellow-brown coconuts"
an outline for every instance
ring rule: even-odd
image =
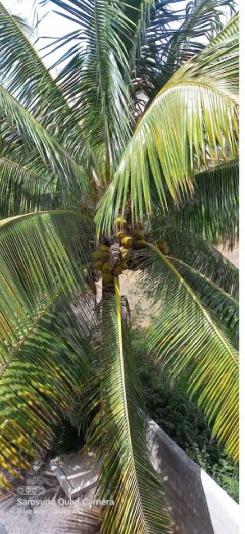
[[[52,5],[74,22],[44,51],[56,76],[0,3],[0,485],[65,414],[101,457],[101,532],[170,532],[120,276],[139,270],[158,371],[185,372],[237,460],[238,270],[206,239],[238,235],[238,14]]]

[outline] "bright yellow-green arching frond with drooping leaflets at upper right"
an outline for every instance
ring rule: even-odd
[[[129,194],[133,219],[152,215],[149,169],[166,211],[166,188],[178,203],[210,160],[238,155],[238,15],[228,27],[229,36],[224,30],[219,44],[180,67],[144,113],[102,198],[98,231],[111,231]]]

